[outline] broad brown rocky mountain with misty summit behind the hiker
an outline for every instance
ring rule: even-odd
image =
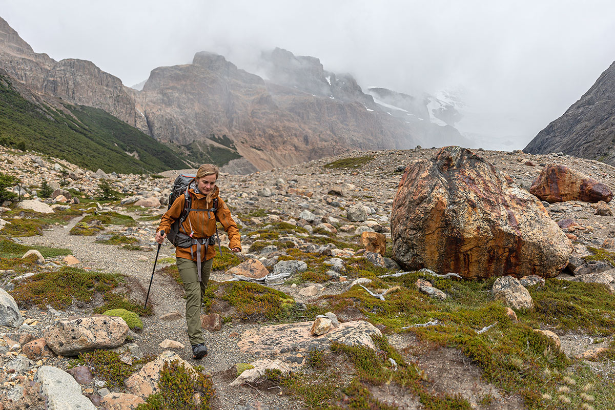
[[[359,101],[289,86],[320,87],[315,79],[324,72],[318,67],[284,72],[287,85],[265,82],[220,55],[200,52],[192,64],[154,69],[138,93],[137,106],[159,140],[189,144],[226,135],[261,170],[350,148],[400,148],[415,142],[399,120],[368,111]]]

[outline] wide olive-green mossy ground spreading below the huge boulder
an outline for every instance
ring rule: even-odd
[[[418,277],[430,280],[448,294],[448,299],[435,301],[419,293],[414,286]],[[493,300],[492,285],[493,280],[455,281],[415,272],[399,278],[376,278],[368,285],[373,289],[400,286],[398,291],[387,294],[386,301],[373,298],[360,286],[321,299],[338,315],[360,312],[371,323],[385,325],[388,331],[410,331],[435,346],[461,350],[482,369],[485,380],[505,392],[522,395],[528,408],[579,408],[578,397],[569,397],[570,403],[557,399],[558,386],[566,384],[566,373],[579,363],[568,360],[550,339],[533,329],[613,334],[615,296],[597,290],[595,284],[547,280],[544,288],[530,289],[537,309],[518,312],[520,321],[515,323],[507,317],[506,308]],[[430,320],[438,320],[438,325],[403,329]],[[477,333],[493,324],[488,331]],[[575,373],[574,377],[577,384],[603,384],[601,377],[590,371],[582,377]],[[596,397],[596,403],[602,401],[606,405],[613,395],[615,387],[609,385],[600,398]]]

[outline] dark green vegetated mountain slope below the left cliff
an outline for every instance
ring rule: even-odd
[[[101,109],[64,106],[72,116],[26,100],[10,77],[0,74],[0,144],[94,171],[152,173],[188,167],[170,148]]]

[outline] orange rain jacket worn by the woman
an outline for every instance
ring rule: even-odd
[[[192,188],[188,189],[188,192],[190,192],[190,194],[192,195],[192,209],[213,208],[213,199],[212,202],[207,202],[207,195],[196,194],[194,192],[194,189]],[[239,229],[237,229],[237,224],[231,217],[231,211],[229,211],[228,207],[226,207],[226,204],[220,198],[219,194],[220,190],[216,186],[216,191],[213,194],[213,198],[218,198],[218,210],[216,211],[215,215],[213,215],[213,212],[191,211],[190,213],[188,213],[188,218],[186,218],[183,224],[181,224],[180,232],[186,233],[188,235],[191,232],[194,232],[194,235],[192,237],[198,239],[210,237],[216,234],[216,221],[218,221],[222,224],[222,226],[224,227],[224,231],[226,231],[229,236],[229,248],[241,249],[241,237],[239,235]],[[173,224],[175,219],[178,219],[181,216],[181,212],[184,210],[185,201],[186,200],[183,194],[181,194],[177,197],[177,199],[175,199],[175,202],[173,202],[172,207],[170,207],[169,210],[165,212],[164,215],[162,215],[162,221],[158,226],[157,231],[164,231],[167,234],[169,233],[171,225]],[[196,249],[197,246],[192,245],[192,254],[194,254],[194,258],[192,258],[190,256],[190,248],[180,248],[179,246],[177,246],[175,248],[175,256],[177,258],[191,259],[192,261],[196,262],[198,257]],[[200,256],[200,261],[208,261],[214,256],[216,256],[216,247],[210,245],[207,247],[207,254],[202,254]]]

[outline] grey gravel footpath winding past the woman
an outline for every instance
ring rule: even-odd
[[[153,262],[156,251],[127,251],[116,245],[105,245],[95,243],[95,237],[84,237],[80,235],[69,235],[70,229],[79,222],[81,218],[72,219],[66,226],[54,226],[43,232],[42,236],[24,237],[23,243],[27,245],[54,246],[56,248],[68,248],[73,251],[73,255],[79,259],[76,267],[82,269],[99,270],[101,272],[117,273],[137,280],[141,289],[133,286],[133,298],[145,301],[145,292],[149,285],[153,270]],[[160,250],[159,260],[175,256],[175,248],[166,242]],[[156,269],[159,272],[157,266]],[[214,273],[213,277],[221,278],[220,273]],[[241,409],[247,403],[262,401],[271,408],[301,408],[298,404],[293,404],[286,397],[275,394],[263,397],[262,392],[253,390],[249,387],[228,387],[232,381],[232,372],[229,368],[236,363],[250,363],[256,360],[237,348],[237,341],[240,334],[255,324],[239,324],[223,326],[221,331],[207,332],[207,346],[209,354],[204,360],[192,360],[191,348],[186,334],[185,299],[183,291],[167,275],[155,274],[149,294],[149,301],[154,307],[154,314],[150,317],[142,317],[145,328],[138,333],[135,341],[140,345],[145,353],[159,354],[162,352],[159,344],[164,339],[172,339],[181,342],[186,346],[185,349],[177,353],[192,365],[202,365],[205,372],[212,374],[216,388],[216,406],[220,409]],[[162,321],[160,317],[169,312],[180,312],[182,318],[179,320]],[[36,314],[34,312],[28,312]],[[61,312],[63,316],[74,314],[73,312]],[[51,319],[51,318],[49,318]],[[273,403],[272,403],[273,402]]]

